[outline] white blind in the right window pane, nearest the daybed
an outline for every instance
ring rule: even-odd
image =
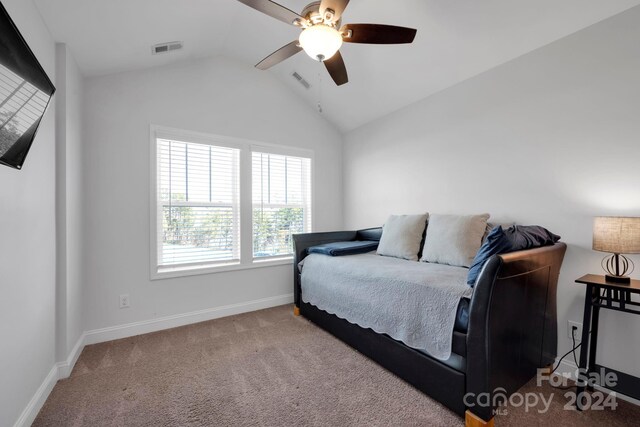
[[[252,177],[254,258],[292,254],[311,231],[311,159],[254,151]]]

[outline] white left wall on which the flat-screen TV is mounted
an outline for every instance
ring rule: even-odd
[[[32,1],[2,2],[55,81],[55,46]],[[22,170],[0,166],[0,425],[12,425],[55,363],[55,105]]]

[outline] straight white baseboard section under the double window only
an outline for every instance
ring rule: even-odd
[[[291,303],[293,303],[293,294],[278,295],[206,310],[192,311],[190,313],[175,314],[173,316],[159,317],[157,319],[143,320],[125,325],[94,329],[85,332],[84,343],[85,345],[97,344]]]

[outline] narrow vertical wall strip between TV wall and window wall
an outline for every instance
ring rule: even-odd
[[[56,44],[56,356],[64,361],[84,332],[82,322],[83,77],[63,43]]]

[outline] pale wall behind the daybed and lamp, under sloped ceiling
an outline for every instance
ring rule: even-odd
[[[573,281],[601,271],[592,217],[640,215],[638,40],[640,7],[350,132],[345,225],[490,212],[562,235],[564,353],[567,319],[582,322],[584,288]],[[598,360],[640,375],[639,326],[637,316],[602,313]]]

